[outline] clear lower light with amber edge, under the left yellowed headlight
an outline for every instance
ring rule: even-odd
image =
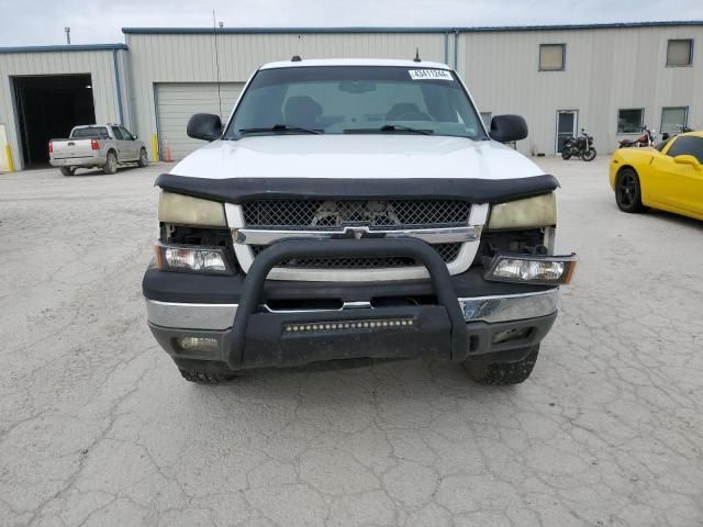
[[[156,262],[163,271],[190,271],[231,274],[232,268],[222,247],[156,244]]]

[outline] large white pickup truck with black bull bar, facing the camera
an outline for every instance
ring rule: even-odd
[[[520,88],[515,88],[520,89]],[[487,128],[448,66],[263,66],[211,143],[158,177],[149,327],[193,382],[314,361],[432,357],[484,384],[532,372],[574,255],[557,180]]]

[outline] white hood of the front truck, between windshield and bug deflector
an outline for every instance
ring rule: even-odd
[[[544,172],[493,141],[427,135],[276,135],[215,141],[170,171],[191,178],[513,179]]]

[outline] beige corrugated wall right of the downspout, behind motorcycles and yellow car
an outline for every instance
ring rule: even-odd
[[[693,67],[666,67],[669,38],[694,38]],[[659,131],[663,106],[689,106],[689,123],[703,127],[703,26],[477,32],[458,44],[458,69],[480,110],[527,120],[524,153],[555,153],[558,110],[578,110],[579,128],[602,154],[625,137],[618,109],[644,108]],[[566,44],[565,71],[538,71],[539,44]]]

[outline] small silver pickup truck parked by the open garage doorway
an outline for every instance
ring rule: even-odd
[[[48,155],[52,167],[59,167],[64,176],[72,176],[77,168],[114,173],[119,165],[149,162],[144,143],[118,124],[76,126],[67,139],[49,141]]]

